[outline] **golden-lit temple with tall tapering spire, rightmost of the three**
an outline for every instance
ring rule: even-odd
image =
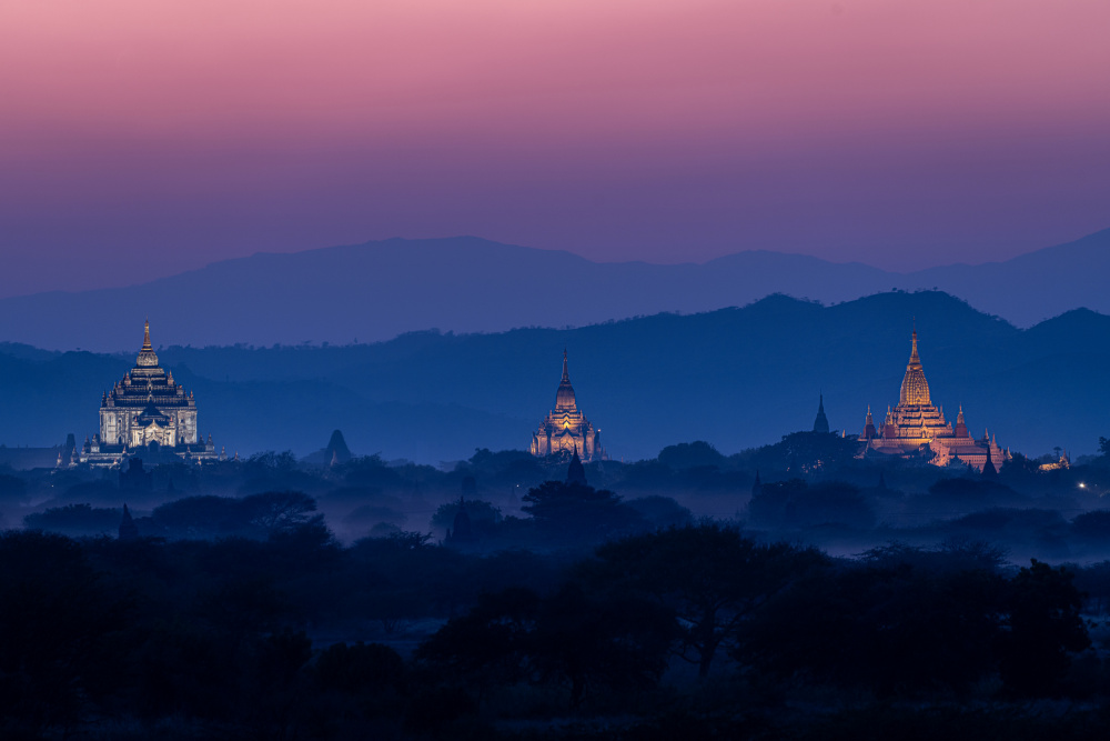
[[[925,370],[917,353],[916,329],[898,405],[894,409],[887,407],[881,427],[875,425],[868,408],[864,434],[859,440],[864,443],[865,455],[912,455],[928,449],[934,453],[929,462],[935,465],[949,465],[958,460],[979,471],[982,471],[988,457],[996,470],[1010,458],[1010,452],[999,448],[995,438],[986,431],[978,440],[970,435],[963,421],[962,407],[953,427],[945,420],[944,409],[932,403],[929,382],[925,380]]]

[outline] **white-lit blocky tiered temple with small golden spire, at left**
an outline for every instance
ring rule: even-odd
[[[158,364],[145,324],[134,368],[100,400],[100,432],[88,438],[80,462],[119,465],[131,455],[173,454],[186,461],[215,460],[212,444],[196,431],[196,401]]]

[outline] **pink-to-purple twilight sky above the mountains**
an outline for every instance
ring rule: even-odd
[[[1003,260],[1110,227],[1108,29],[1106,0],[4,0],[0,297],[390,237]]]

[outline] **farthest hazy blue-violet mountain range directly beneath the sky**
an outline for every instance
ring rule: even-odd
[[[129,288],[3,299],[0,341],[118,351],[149,316],[155,342],[168,344],[346,344],[430,328],[498,332],[705,312],[773,293],[835,303],[934,288],[1029,327],[1071,309],[1110,312],[1108,274],[1110,230],[1007,262],[909,274],[777,252],[657,266],[471,237],[394,239],[260,253]]]

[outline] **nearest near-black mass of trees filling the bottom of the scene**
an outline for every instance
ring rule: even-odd
[[[490,554],[343,547],[311,511],[254,538],[7,531],[0,735],[1093,738],[1107,574],[977,541],[833,559],[708,520]]]

